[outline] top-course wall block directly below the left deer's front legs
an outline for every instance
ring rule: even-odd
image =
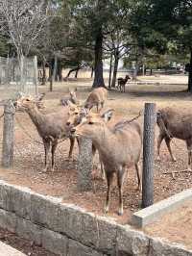
[[[30,219],[51,230],[58,230],[60,199],[34,193],[31,195]]]

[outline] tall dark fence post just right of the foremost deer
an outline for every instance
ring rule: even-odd
[[[142,208],[154,203],[154,146],[156,104],[145,103],[143,134]]]

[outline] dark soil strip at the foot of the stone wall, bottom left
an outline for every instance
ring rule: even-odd
[[[13,248],[29,256],[56,256],[56,254],[37,246],[35,243],[19,238],[12,232],[0,228],[0,241],[11,245]],[[6,255],[2,255],[6,256]]]

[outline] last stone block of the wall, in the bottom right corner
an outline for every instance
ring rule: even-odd
[[[163,242],[159,238],[150,239],[149,256],[191,256],[192,251],[185,249],[180,244]]]

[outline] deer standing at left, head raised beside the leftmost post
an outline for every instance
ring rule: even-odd
[[[39,137],[42,139],[45,152],[44,171],[48,170],[48,153],[51,147],[52,166],[55,167],[55,152],[60,139],[67,138],[69,132],[67,131],[66,121],[69,118],[69,107],[62,108],[59,112],[51,114],[42,114],[36,106],[36,98],[32,96],[22,96],[16,102],[18,110],[25,111],[36,126]],[[68,157],[71,158],[75,139],[69,136],[70,149]]]

